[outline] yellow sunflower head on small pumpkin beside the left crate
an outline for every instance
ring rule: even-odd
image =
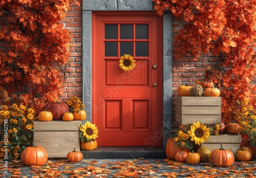
[[[82,138],[84,139],[84,137],[89,141],[89,140],[95,140],[98,136],[98,129],[95,126],[95,124],[90,123],[89,121],[87,121],[85,124],[83,124],[80,127],[80,131],[82,133]]]

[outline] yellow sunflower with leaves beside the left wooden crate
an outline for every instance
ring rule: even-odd
[[[91,142],[95,141],[98,137],[98,128],[95,124],[87,121],[84,123],[79,130],[79,138],[81,142]]]

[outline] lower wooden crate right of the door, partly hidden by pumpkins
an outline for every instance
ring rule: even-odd
[[[224,149],[229,149],[236,157],[236,153],[240,148],[241,136],[222,134],[219,136],[210,136],[207,141],[202,143],[202,147],[208,147],[211,151],[220,149],[221,144]]]

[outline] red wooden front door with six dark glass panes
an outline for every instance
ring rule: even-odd
[[[98,146],[162,146],[162,20],[156,13],[92,16],[92,122]],[[123,71],[119,59],[133,56]]]

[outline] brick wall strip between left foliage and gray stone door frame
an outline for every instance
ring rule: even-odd
[[[80,3],[82,1],[80,0]],[[82,4],[80,7],[71,6],[62,19],[64,28],[71,33],[70,57],[66,68],[66,79],[63,76],[63,94],[60,98],[71,96],[82,98]],[[65,99],[66,100],[66,99]]]

